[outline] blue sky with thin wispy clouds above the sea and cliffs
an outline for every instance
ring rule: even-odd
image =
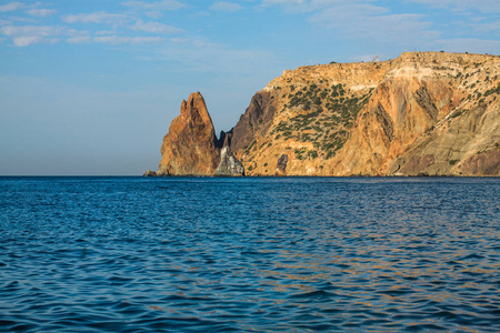
[[[216,131],[299,65],[500,54],[498,0],[0,0],[0,175],[156,170],[200,91]]]

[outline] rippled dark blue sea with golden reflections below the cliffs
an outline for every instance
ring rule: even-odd
[[[500,331],[499,179],[0,179],[0,331]]]

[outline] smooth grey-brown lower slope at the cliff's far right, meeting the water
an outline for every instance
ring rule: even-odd
[[[460,119],[418,138],[391,161],[388,174],[500,175],[499,105],[458,112],[463,112]]]

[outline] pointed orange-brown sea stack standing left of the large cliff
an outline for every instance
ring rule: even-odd
[[[220,153],[201,93],[182,101],[180,113],[163,138],[158,175],[213,175]]]

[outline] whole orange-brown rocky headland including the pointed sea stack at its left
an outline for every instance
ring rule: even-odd
[[[233,155],[247,175],[500,175],[499,75],[499,56],[444,52],[300,67],[219,140],[197,93],[158,173],[214,174]]]

